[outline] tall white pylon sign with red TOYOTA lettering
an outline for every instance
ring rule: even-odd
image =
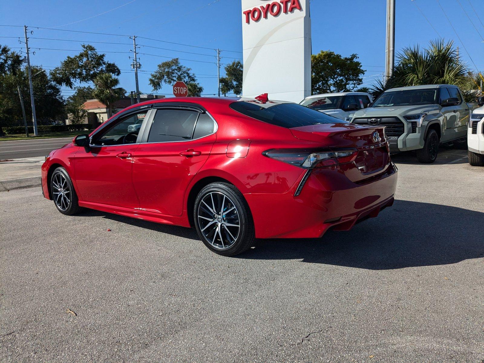
[[[242,94],[301,102],[311,94],[309,0],[242,0]]]

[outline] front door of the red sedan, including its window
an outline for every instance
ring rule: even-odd
[[[140,118],[148,121],[150,114],[151,110],[145,107],[109,121],[91,136],[90,148],[80,148],[76,152],[73,167],[76,187],[83,201],[124,208],[139,207],[132,181],[139,129],[129,132],[128,128]]]

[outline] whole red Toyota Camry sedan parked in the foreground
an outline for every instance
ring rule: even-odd
[[[255,238],[348,230],[393,204],[396,181],[383,127],[266,95],[137,104],[42,166],[44,196],[61,213],[195,227],[226,256]]]

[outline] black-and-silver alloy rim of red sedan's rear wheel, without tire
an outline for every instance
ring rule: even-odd
[[[214,248],[230,248],[241,230],[239,211],[235,204],[221,192],[209,192],[198,204],[198,224],[204,239]]]

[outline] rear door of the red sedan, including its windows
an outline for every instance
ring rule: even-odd
[[[140,209],[179,216],[188,184],[212,150],[216,123],[193,107],[155,112],[135,153],[133,183]]]

